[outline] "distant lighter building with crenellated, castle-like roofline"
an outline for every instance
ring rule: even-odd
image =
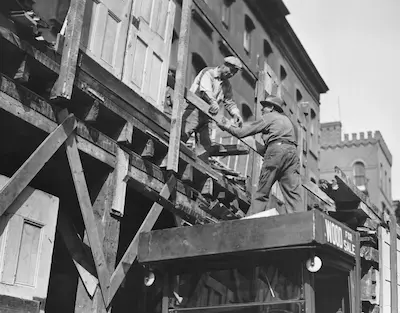
[[[392,155],[379,131],[344,134],[341,122],[321,124],[321,179],[334,179],[338,166],[380,208],[392,205]]]

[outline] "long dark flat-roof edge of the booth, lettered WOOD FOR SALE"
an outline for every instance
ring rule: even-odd
[[[355,257],[358,233],[328,215],[308,211],[216,224],[176,227],[142,233],[138,261],[219,259],[280,247],[321,245]]]

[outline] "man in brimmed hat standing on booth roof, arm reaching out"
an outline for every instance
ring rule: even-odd
[[[296,130],[290,119],[282,114],[283,103],[279,97],[268,96],[265,101],[261,101],[263,108],[260,119],[245,123],[241,128],[227,126],[223,122],[218,125],[239,138],[261,133],[265,144],[258,189],[247,216],[268,209],[269,194],[276,181],[279,181],[286,202],[285,213],[301,210],[300,159],[297,154]]]

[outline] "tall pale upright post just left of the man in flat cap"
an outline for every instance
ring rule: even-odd
[[[167,170],[178,172],[179,148],[181,143],[182,114],[186,82],[187,55],[189,48],[190,24],[193,0],[182,1],[182,20],[179,33],[176,81],[173,97],[171,133],[169,137]]]

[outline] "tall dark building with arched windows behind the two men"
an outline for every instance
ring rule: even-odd
[[[320,94],[325,93],[328,87],[287,22],[289,11],[282,1],[205,2],[225,30],[236,39],[236,46],[242,50],[239,52],[247,58],[251,69],[254,72],[273,72],[276,76],[276,93],[284,98],[285,113],[298,128],[301,173],[304,179],[316,181],[319,177]],[[176,68],[180,16],[180,6],[177,5],[170,61],[172,69]],[[187,86],[191,85],[201,69],[221,64],[228,55],[234,53],[209,20],[194,7]],[[254,120],[256,80],[245,69],[231,81],[234,98],[244,120]],[[237,143],[236,138],[219,129],[213,132],[213,139],[224,144]],[[244,176],[248,174],[249,158],[246,156],[230,156],[221,161]]]

